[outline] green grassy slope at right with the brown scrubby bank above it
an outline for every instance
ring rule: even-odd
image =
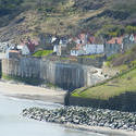
[[[76,89],[72,96],[109,100],[127,91],[136,92],[136,46],[108,58],[107,63],[111,69],[119,70],[120,74],[95,87]]]

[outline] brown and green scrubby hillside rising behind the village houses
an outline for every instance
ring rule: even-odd
[[[1,0],[0,40],[89,32],[106,38],[136,32],[135,0]]]

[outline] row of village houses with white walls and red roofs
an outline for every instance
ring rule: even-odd
[[[136,44],[136,36],[124,35],[112,37],[109,40],[102,37],[96,38],[90,34],[79,34],[76,37],[58,37],[48,35],[47,37],[25,40],[18,44],[11,41],[0,42],[0,51],[5,53],[5,58],[30,57],[39,50],[51,50],[52,55],[58,57],[79,57],[103,54],[110,57],[131,49]],[[41,46],[44,45],[44,46]]]

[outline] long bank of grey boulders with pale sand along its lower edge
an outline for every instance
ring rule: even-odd
[[[113,133],[113,136],[136,135],[135,112],[131,113],[83,107],[63,107],[54,110],[29,108],[24,109],[22,114],[29,119],[65,124],[67,126],[91,132],[101,132],[103,134]],[[101,128],[102,131],[100,131]]]

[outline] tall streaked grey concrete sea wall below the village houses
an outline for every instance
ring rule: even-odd
[[[37,58],[4,59],[2,74],[10,77],[37,78],[63,89],[73,90],[97,82],[95,67],[73,63],[53,62]]]

